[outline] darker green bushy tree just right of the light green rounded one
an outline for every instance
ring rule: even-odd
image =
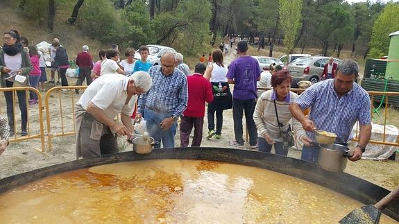
[[[153,44],[154,31],[150,19],[150,12],[144,1],[134,1],[124,11],[124,18],[128,21],[128,45],[136,49],[143,44]]]

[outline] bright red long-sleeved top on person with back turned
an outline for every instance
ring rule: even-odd
[[[185,117],[204,117],[205,102],[213,101],[212,85],[202,74],[194,73],[187,77],[189,101],[183,112]]]

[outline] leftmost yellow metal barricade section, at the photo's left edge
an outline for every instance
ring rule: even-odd
[[[26,136],[21,136],[21,137],[17,137],[17,121],[19,121],[19,119],[17,119],[16,116],[16,112],[17,114],[21,114],[20,110],[15,110],[15,105],[17,104],[16,100],[17,100],[17,91],[25,91],[24,95],[25,95],[25,101],[26,101],[26,117],[27,117],[27,121],[26,121],[26,132],[27,135]],[[38,119],[38,123],[33,123],[32,121],[35,121],[35,113],[33,113],[33,108],[36,107],[36,105],[29,105],[29,101],[28,101],[28,94],[29,91],[31,92],[35,92],[35,94],[37,94],[37,119]],[[33,87],[7,87],[7,88],[0,88],[0,92],[6,93],[6,92],[12,92],[12,117],[13,117],[13,127],[10,127],[10,129],[12,129],[14,131],[14,134],[12,136],[10,136],[10,142],[17,142],[17,141],[24,141],[27,139],[40,139],[40,144],[41,144],[41,151],[42,153],[44,153],[45,150],[45,145],[44,145],[44,126],[43,126],[43,100],[42,100],[42,94],[40,94],[40,92],[33,88]],[[3,101],[1,101],[3,102]],[[4,102],[4,105],[6,105],[7,103]],[[18,102],[19,105],[19,102]],[[3,103],[1,103],[0,108],[4,108],[6,110],[6,116],[7,116],[7,106],[4,107]],[[1,111],[0,111],[1,113]],[[30,113],[33,113],[32,116],[29,116]],[[22,121],[21,121],[22,123]],[[19,124],[19,123],[18,123]],[[38,126],[38,127],[37,127]],[[38,133],[32,133],[31,129],[32,128],[39,128]],[[32,135],[33,134],[33,135]],[[36,148],[34,148],[35,150],[37,150]]]

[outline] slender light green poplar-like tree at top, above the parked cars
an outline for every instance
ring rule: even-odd
[[[302,0],[280,0],[280,24],[284,31],[284,44],[288,53],[294,49],[296,35],[300,28],[300,11],[302,10]]]

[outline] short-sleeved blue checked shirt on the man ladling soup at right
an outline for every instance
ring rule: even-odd
[[[353,139],[350,132],[357,120],[361,125],[371,123],[370,96],[357,83],[340,97],[334,90],[334,79],[324,80],[306,89],[295,103],[302,110],[310,107],[309,119],[317,129],[335,133],[337,144]],[[315,139],[312,132],[307,132],[307,136]]]

